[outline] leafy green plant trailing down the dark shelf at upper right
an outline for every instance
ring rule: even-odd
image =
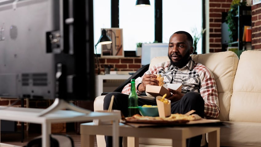
[[[230,9],[227,12],[227,25],[228,25],[228,31],[230,32],[229,38],[230,41],[236,41],[238,39],[237,37],[237,22],[235,20],[236,15],[238,15],[238,6],[246,6],[247,1],[246,0],[233,0]]]

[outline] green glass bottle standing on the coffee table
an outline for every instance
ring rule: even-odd
[[[138,108],[138,95],[135,88],[135,79],[131,79],[130,82],[130,95],[128,98],[128,116],[133,116],[139,113]]]

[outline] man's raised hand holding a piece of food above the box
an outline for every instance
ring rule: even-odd
[[[142,79],[142,84],[139,84],[138,91],[144,92],[146,90],[146,85],[159,86],[159,81],[154,78],[157,78],[157,76],[153,74],[144,75]]]

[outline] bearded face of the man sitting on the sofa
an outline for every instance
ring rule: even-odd
[[[185,34],[174,34],[169,41],[168,57],[171,64],[179,68],[188,63],[193,47]]]

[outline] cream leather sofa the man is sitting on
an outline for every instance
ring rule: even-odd
[[[244,51],[240,60],[234,52],[191,55],[214,74],[220,114],[229,123],[220,130],[220,145],[233,147],[261,146],[261,51]],[[168,60],[156,57],[150,66]],[[102,110],[104,96],[94,101],[94,111]],[[206,137],[207,138],[207,137]],[[98,147],[104,147],[104,136],[97,136]],[[204,139],[203,143],[204,145]],[[140,147],[172,146],[169,139],[140,138]]]

